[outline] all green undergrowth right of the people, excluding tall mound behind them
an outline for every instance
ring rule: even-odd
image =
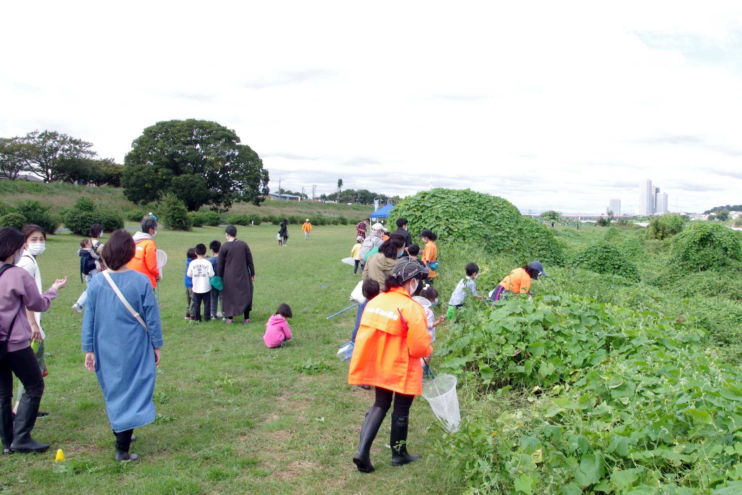
[[[467,493],[741,489],[742,236],[646,230],[559,228],[564,266],[546,266],[532,300],[458,312],[436,355],[459,376],[464,422],[441,430],[438,451]],[[462,244],[439,252],[459,269],[436,281],[444,294],[469,261],[480,294],[519,265]]]

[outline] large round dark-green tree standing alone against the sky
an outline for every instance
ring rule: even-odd
[[[234,201],[260,206],[269,193],[263,160],[240,137],[209,120],[168,120],[145,128],[124,158],[128,200],[151,202],[172,192],[189,211],[226,211]]]

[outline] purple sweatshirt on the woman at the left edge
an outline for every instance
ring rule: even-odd
[[[5,263],[0,263],[4,265]],[[13,333],[7,343],[7,352],[12,353],[30,346],[31,326],[28,323],[25,306],[31,311],[45,312],[51,306],[51,300],[56,298],[56,289],[49,289],[39,294],[36,281],[20,266],[5,270],[0,275],[0,339],[5,341],[7,328],[18,313]],[[20,309],[20,311],[19,311]]]

